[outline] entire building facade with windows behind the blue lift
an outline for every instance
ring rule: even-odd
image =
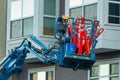
[[[19,46],[28,35],[45,44],[53,43],[54,24],[59,15],[99,20],[104,33],[98,38],[97,60],[91,71],[43,64],[28,55],[23,71],[11,80],[120,80],[120,1],[76,0],[0,0],[0,59]],[[29,3],[29,4],[28,4]],[[74,4],[74,3],[72,3]],[[43,76],[44,75],[44,76]]]

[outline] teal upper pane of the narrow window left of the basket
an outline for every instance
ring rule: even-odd
[[[44,0],[44,14],[53,15],[56,14],[56,0]]]

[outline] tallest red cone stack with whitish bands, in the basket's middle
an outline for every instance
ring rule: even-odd
[[[90,54],[89,40],[88,40],[87,31],[85,28],[85,20],[83,17],[81,17],[81,19],[77,21],[77,26],[78,26],[78,28],[76,28],[77,29],[76,45],[78,49],[77,54],[80,54],[80,55]]]

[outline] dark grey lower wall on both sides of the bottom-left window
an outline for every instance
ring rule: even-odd
[[[28,80],[28,69],[48,67],[52,65],[42,64],[40,62],[36,63],[26,63],[24,64],[24,69],[21,74],[15,74],[12,80]],[[87,71],[62,68],[57,64],[55,65],[55,80],[88,80]]]

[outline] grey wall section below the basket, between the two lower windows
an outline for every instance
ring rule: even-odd
[[[87,70],[73,71],[70,68],[62,68],[56,66],[56,79],[55,80],[88,80]]]

